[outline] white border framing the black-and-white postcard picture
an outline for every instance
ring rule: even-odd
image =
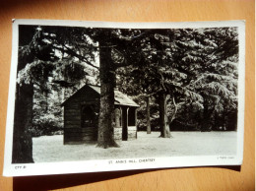
[[[118,159],[61,161],[42,163],[11,163],[13,143],[13,122],[15,107],[16,74],[18,64],[19,25],[69,26],[87,28],[120,28],[120,29],[184,29],[184,28],[221,28],[237,27],[239,38],[238,65],[238,119],[237,119],[237,154],[236,156],[202,156],[202,157],[172,157],[149,158],[153,160],[116,163]],[[6,121],[6,143],[4,156],[4,176],[25,176],[43,174],[81,173],[110,170],[146,169],[163,167],[209,166],[209,165],[241,165],[243,159],[244,134],[244,87],[245,87],[245,22],[183,22],[183,23],[112,23],[84,21],[54,21],[54,20],[13,20],[12,63]],[[147,158],[143,158],[147,159]],[[111,161],[112,160],[112,161]],[[142,160],[142,159],[141,159]]]

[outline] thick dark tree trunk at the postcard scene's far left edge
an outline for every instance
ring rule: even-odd
[[[14,132],[13,163],[31,163],[32,159],[32,97],[33,85],[17,84]]]

